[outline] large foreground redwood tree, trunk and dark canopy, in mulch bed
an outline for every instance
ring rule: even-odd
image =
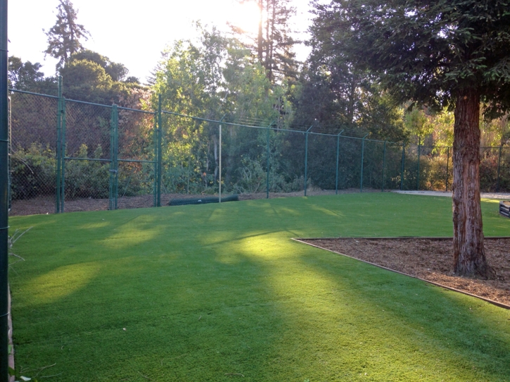
[[[314,4],[331,54],[378,74],[400,100],[454,110],[454,272],[490,274],[480,209],[480,101],[510,107],[510,1],[333,0]]]

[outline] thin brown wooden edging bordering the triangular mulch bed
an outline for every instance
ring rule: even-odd
[[[432,285],[435,285],[435,286],[440,286],[441,288],[448,289],[450,291],[459,292],[461,294],[466,294],[467,296],[471,296],[471,297],[475,297],[475,298],[480,298],[480,300],[483,300],[483,301],[485,301],[487,303],[491,303],[492,305],[499,306],[499,308],[504,308],[504,309],[510,310],[510,305],[506,305],[504,303],[499,303],[497,301],[490,300],[490,298],[485,298],[485,297],[482,297],[482,296],[477,296],[476,294],[471,294],[471,293],[466,292],[466,291],[461,291],[459,289],[452,288],[451,286],[446,286],[446,285],[443,285],[443,284],[439,284],[438,282],[428,281],[426,279],[422,279],[421,277],[416,277],[416,276],[413,276],[413,275],[408,275],[407,273],[400,272],[398,270],[394,270],[394,269],[391,269],[391,268],[387,268],[387,267],[385,267],[383,265],[378,265],[376,263],[371,263],[370,261],[365,261],[365,260],[362,260],[360,258],[349,256],[349,255],[346,255],[345,253],[336,252],[336,251],[333,251],[331,249],[323,248],[323,247],[318,246],[318,245],[314,245],[314,244],[310,244],[310,243],[307,243],[307,242],[303,242],[303,240],[327,240],[327,239],[349,239],[349,240],[351,240],[351,239],[368,239],[368,240],[372,240],[372,239],[373,240],[378,240],[378,239],[387,239],[387,240],[395,240],[395,239],[435,239],[435,240],[438,240],[438,239],[450,239],[450,240],[452,240],[452,237],[423,237],[423,236],[404,236],[404,237],[301,237],[299,239],[293,237],[292,239],[295,242],[300,242],[302,244],[307,244],[307,245],[310,245],[310,246],[314,246],[315,248],[324,249],[324,251],[330,251],[330,252],[336,253],[337,255],[345,256],[345,257],[348,257],[348,258],[354,258],[357,261],[362,261],[363,263],[366,263],[366,264],[375,265],[378,268],[382,268],[382,269],[385,269],[385,270],[390,270],[391,272],[395,272],[395,273],[399,273],[400,275],[412,277],[413,279],[419,279],[419,280],[421,280],[423,282],[428,282],[428,284],[432,284]],[[485,237],[484,239],[510,239],[510,236],[492,236],[492,237]]]

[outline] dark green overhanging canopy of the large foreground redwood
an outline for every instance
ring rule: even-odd
[[[335,0],[316,4],[315,30],[402,102],[443,108],[473,88],[497,114],[510,105],[508,9],[505,0]]]

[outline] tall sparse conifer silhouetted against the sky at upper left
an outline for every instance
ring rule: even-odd
[[[71,55],[81,51],[80,40],[87,40],[90,33],[82,24],[77,23],[78,11],[75,11],[70,0],[59,0],[57,6],[57,22],[46,33],[48,48],[44,53],[58,58],[57,69],[68,63]],[[44,29],[43,29],[44,30]]]

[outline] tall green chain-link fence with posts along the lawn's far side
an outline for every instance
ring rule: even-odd
[[[239,195],[452,190],[452,147],[281,129],[11,91],[11,214]],[[480,149],[480,187],[510,191],[510,148]],[[221,193],[221,194],[220,194]]]

